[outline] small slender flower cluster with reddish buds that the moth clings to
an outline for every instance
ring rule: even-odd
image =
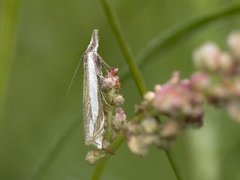
[[[119,93],[121,83],[118,68],[110,68],[106,76],[101,77],[102,100],[104,103],[105,128],[102,149],[88,151],[86,160],[90,164],[111,153],[111,143],[126,126],[126,115],[122,108],[124,98]]]

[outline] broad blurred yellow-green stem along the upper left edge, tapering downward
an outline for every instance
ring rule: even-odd
[[[6,97],[11,60],[14,52],[19,0],[0,2],[0,115]]]

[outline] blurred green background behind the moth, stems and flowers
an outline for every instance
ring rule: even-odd
[[[105,61],[120,72],[126,67],[101,4],[97,0],[0,2],[0,88],[4,93],[0,179],[29,180],[40,169],[37,178],[42,180],[87,180],[93,166],[84,160],[82,72],[70,95],[66,91],[94,28],[99,29],[99,53]],[[111,0],[110,4],[136,56],[161,32],[232,2],[237,1]],[[148,58],[141,68],[148,88],[165,82],[174,70],[187,77],[194,71],[195,48],[211,40],[226,49],[227,35],[239,28],[240,13],[221,18]],[[134,104],[141,100],[131,77],[122,82],[122,91],[130,118]],[[204,120],[203,128],[188,130],[172,146],[181,175],[186,180],[239,180],[240,125],[224,111],[209,107]],[[62,134],[63,141],[51,151]],[[175,176],[163,151],[153,148],[146,157],[138,157],[124,144],[111,157],[102,179],[174,180]]]

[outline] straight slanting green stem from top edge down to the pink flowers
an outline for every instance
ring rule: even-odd
[[[124,40],[123,34],[121,32],[121,29],[118,25],[118,22],[117,22],[115,16],[114,16],[114,13],[111,10],[110,5],[107,0],[100,0],[100,2],[103,7],[103,10],[106,14],[106,17],[108,19],[108,22],[112,28],[112,31],[113,31],[113,33],[118,41],[118,44],[122,50],[125,60],[128,64],[128,68],[134,79],[134,82],[136,83],[136,86],[138,87],[138,90],[141,93],[141,95],[143,95],[146,92],[146,86],[144,84],[140,70],[139,70],[138,66],[136,65],[136,63],[134,62],[132,53],[131,53],[130,49],[128,48],[126,41]]]

